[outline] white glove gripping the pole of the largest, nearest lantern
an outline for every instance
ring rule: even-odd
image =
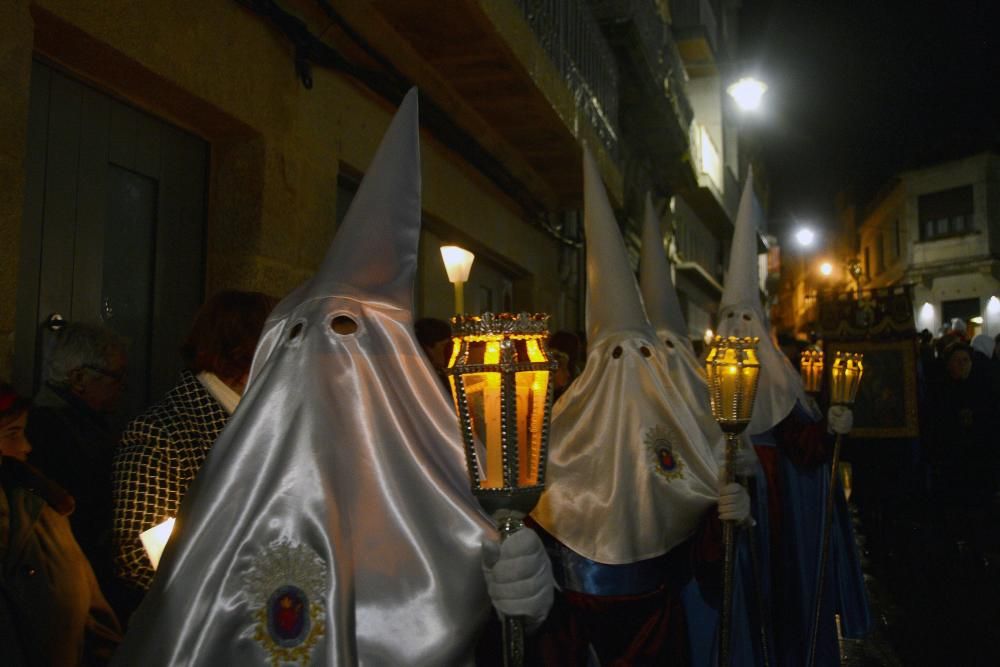
[[[484,541],[483,574],[498,612],[523,616],[529,632],[545,622],[555,580],[549,556],[535,531],[522,528],[499,545]]]

